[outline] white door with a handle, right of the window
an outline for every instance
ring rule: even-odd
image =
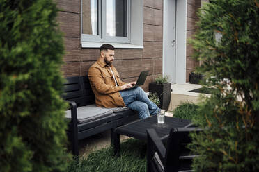
[[[175,83],[175,1],[164,0],[163,74]]]

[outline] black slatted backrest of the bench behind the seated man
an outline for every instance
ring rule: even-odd
[[[88,76],[74,76],[65,78],[63,99],[74,101],[77,107],[95,103],[95,95],[91,89]]]

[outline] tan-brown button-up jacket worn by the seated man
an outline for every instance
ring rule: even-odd
[[[125,107],[119,93],[120,86],[125,83],[120,80],[118,71],[113,65],[111,69],[119,86],[116,86],[109,66],[102,62],[101,58],[89,68],[88,77],[95,94],[95,103],[98,107]]]

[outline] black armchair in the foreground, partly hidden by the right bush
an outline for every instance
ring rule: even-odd
[[[174,172],[191,170],[191,162],[197,155],[190,155],[186,147],[191,142],[190,132],[199,132],[198,128],[172,128],[166,146],[162,143],[154,129],[148,132],[148,172]]]

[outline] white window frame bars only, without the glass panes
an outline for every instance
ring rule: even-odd
[[[127,37],[109,37],[106,34],[106,1],[98,0],[98,35],[88,35],[83,33],[83,0],[81,0],[81,41],[82,42],[113,42],[130,43],[130,0],[127,0]],[[108,0],[109,1],[109,0]]]

